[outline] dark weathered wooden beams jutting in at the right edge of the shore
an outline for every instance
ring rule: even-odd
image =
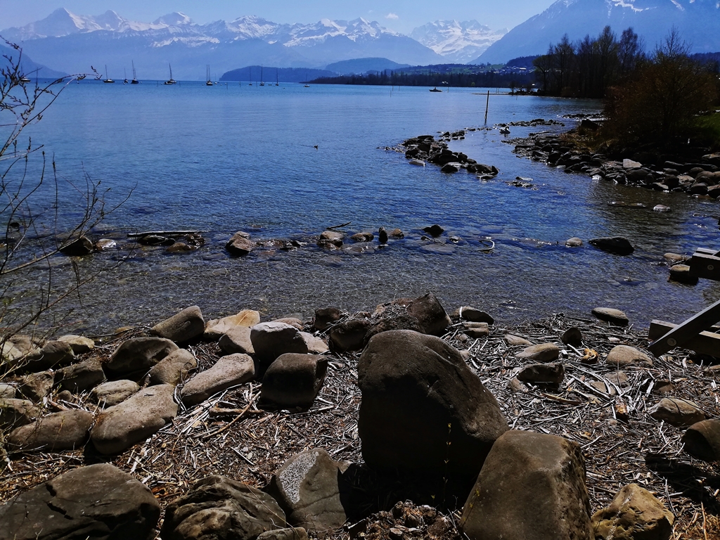
[[[720,251],[696,250],[690,258],[690,275],[720,282]],[[649,338],[654,341],[648,348],[655,356],[680,347],[720,357],[720,328],[714,327],[719,322],[720,300],[679,325],[653,320]]]

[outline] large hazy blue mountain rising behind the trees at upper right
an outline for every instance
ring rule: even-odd
[[[675,26],[691,52],[720,51],[718,0],[558,0],[490,45],[477,61],[502,63],[544,54],[566,33],[576,41],[588,34],[597,36],[608,24],[618,35],[633,27],[648,50]]]

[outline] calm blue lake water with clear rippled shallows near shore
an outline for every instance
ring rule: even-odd
[[[491,181],[410,166],[386,150],[415,135],[482,127],[480,92],[71,84],[28,133],[55,157],[61,184],[84,186],[85,171],[111,188],[109,202],[132,195],[96,231],[96,238],[117,238],[120,249],[80,266],[125,262],[86,287],[82,302],[71,302],[67,328],[102,333],[155,323],[194,304],[206,318],[245,308],[268,317],[309,316],[328,305],[372,310],[425,292],[446,310],[474,305],[500,324],[553,312],[588,317],[593,307],[608,306],[647,326],[653,318],[680,322],[720,297],[720,284],[667,282],[662,264],[668,251],[720,248],[718,202],[565,174],[518,158],[496,129],[468,132],[450,145],[497,166]],[[563,115],[599,109],[591,101],[491,95],[487,125],[544,118],[565,122],[552,128],[560,130],[575,122]],[[512,127],[510,136],[546,129]],[[508,185],[516,176],[533,179],[536,189]],[[648,208],[611,207],[613,201]],[[73,204],[61,207],[66,219],[77,216]],[[652,212],[655,204],[672,212]],[[313,235],[344,222],[351,222],[347,233],[397,227],[405,239],[383,249],[376,240],[362,254],[315,246]],[[420,240],[421,229],[434,223],[446,230],[441,241],[448,234],[462,240],[441,248]],[[127,233],[178,229],[207,231],[207,243],[182,255],[130,251]],[[237,230],[307,246],[230,258],[223,246]],[[613,256],[587,245],[604,235],[626,236],[635,253]],[[572,236],[585,247],[565,248]],[[490,253],[485,239],[495,242]],[[69,270],[67,258],[54,264]],[[37,274],[15,279],[14,287],[32,287]]]

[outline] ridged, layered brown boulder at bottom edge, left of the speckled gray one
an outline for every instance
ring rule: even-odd
[[[285,513],[270,495],[213,475],[168,506],[160,535],[163,540],[256,540],[286,525]]]

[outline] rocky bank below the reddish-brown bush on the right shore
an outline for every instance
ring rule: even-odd
[[[584,122],[588,125],[590,121]],[[526,139],[510,142],[515,144],[516,153],[548,166],[562,167],[567,173],[587,174],[616,184],[662,192],[720,197],[720,154],[697,156],[690,161],[655,153],[634,153],[632,159],[607,156],[578,144],[569,136],[574,133],[575,130],[562,135],[531,134]]]

